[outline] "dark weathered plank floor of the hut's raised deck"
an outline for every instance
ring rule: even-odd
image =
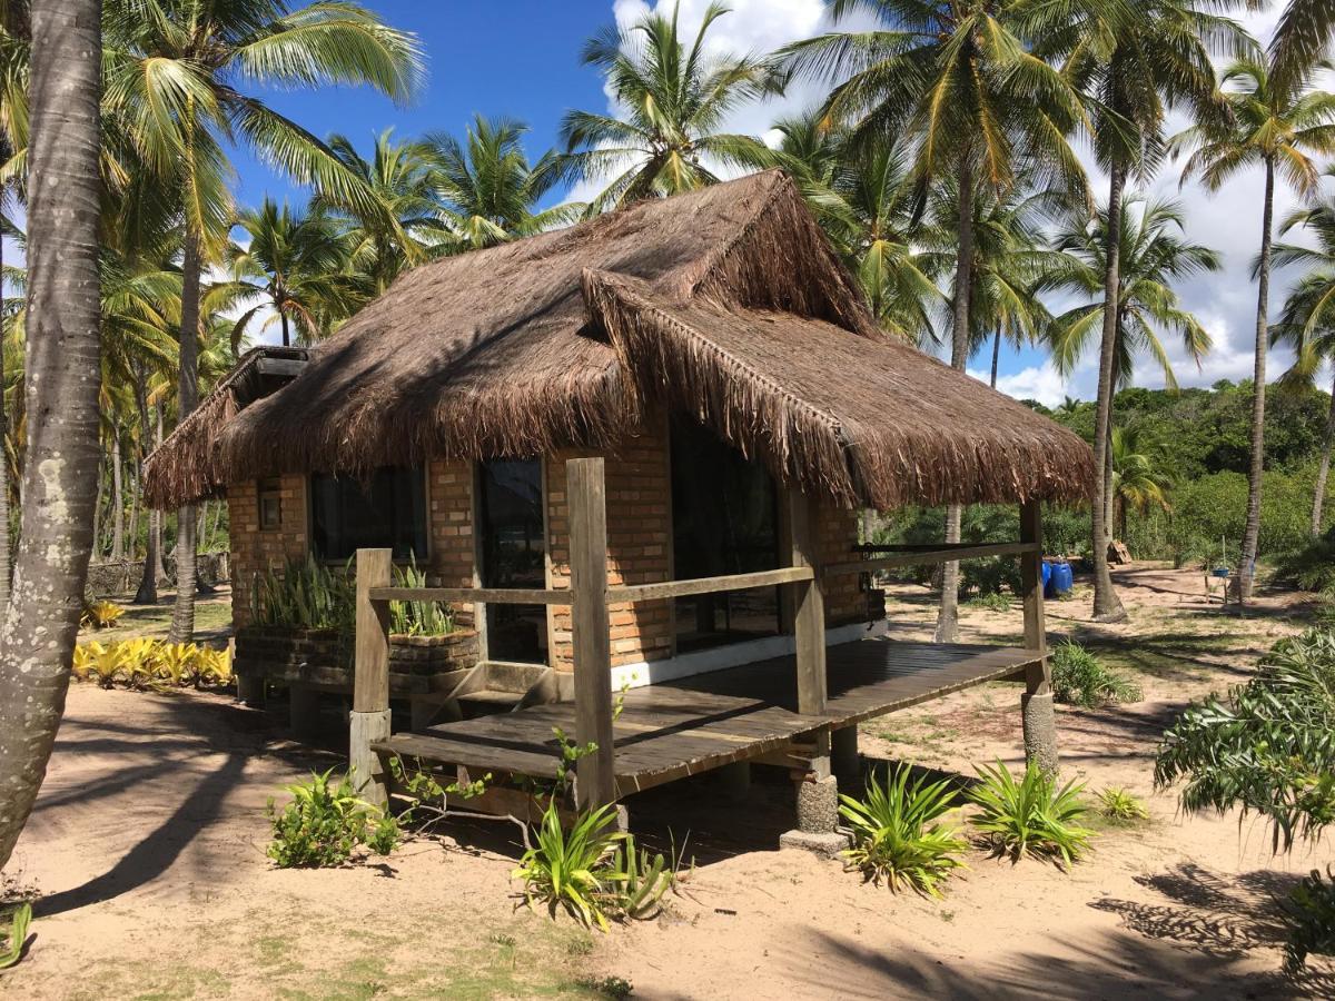
[[[826,711],[801,715],[793,657],[631,689],[614,723],[617,794],[649,789],[770,754],[825,726],[850,726],[951,691],[1023,674],[1032,650],[864,639],[829,647]],[[394,734],[379,753],[554,778],[553,733],[574,735],[575,706],[561,702]]]

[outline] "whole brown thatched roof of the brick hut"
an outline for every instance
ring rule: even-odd
[[[845,505],[1081,499],[1093,476],[1076,435],[882,335],[780,172],[419,267],[286,387],[239,412],[219,392],[150,458],[151,503],[603,447],[662,403]]]

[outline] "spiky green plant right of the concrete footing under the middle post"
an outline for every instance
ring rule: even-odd
[[[939,897],[940,884],[964,865],[960,854],[968,845],[955,827],[939,823],[956,805],[949,782],[918,777],[910,783],[910,771],[900,765],[884,786],[872,775],[862,799],[840,797],[838,811],[853,827],[845,856],[872,882]]]

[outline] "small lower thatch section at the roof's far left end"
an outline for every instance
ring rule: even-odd
[[[238,396],[260,359],[304,360],[306,356],[307,351],[302,347],[268,346],[254,347],[242,355],[236,367],[171,432],[167,440],[172,442],[172,448],[167,448],[164,442],[146,459],[146,502],[166,509],[215,494],[227,482],[216,462],[218,436],[242,408]]]

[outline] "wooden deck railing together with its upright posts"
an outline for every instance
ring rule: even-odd
[[[1041,522],[1039,505],[1021,507],[1020,542],[985,545],[933,545],[862,547],[889,555],[818,565],[810,499],[797,488],[786,494],[789,566],[745,574],[662,581],[642,585],[607,585],[607,522],[603,460],[566,462],[566,496],[570,510],[570,587],[395,587],[391,585],[390,550],[356,553],[356,646],[350,723],[350,765],[362,795],[383,802],[383,762],[370,746],[390,737],[390,602],[478,602],[510,605],[566,605],[571,610],[574,642],[575,742],[597,750],[577,765],[581,806],[615,798],[611,698],[611,639],[609,603],[646,602],[694,594],[717,594],[752,587],[784,587],[792,597],[793,641],[797,671],[797,710],[821,715],[826,707],[825,607],[821,582],[826,577],[866,573],[916,563],[943,563],[988,555],[1021,557],[1025,645],[1045,651],[1043,591],[1040,587]],[[893,551],[890,551],[893,549]],[[1047,691],[1045,659],[1031,671],[1029,691]],[[821,738],[818,737],[818,741]],[[828,751],[829,734],[824,734]]]

